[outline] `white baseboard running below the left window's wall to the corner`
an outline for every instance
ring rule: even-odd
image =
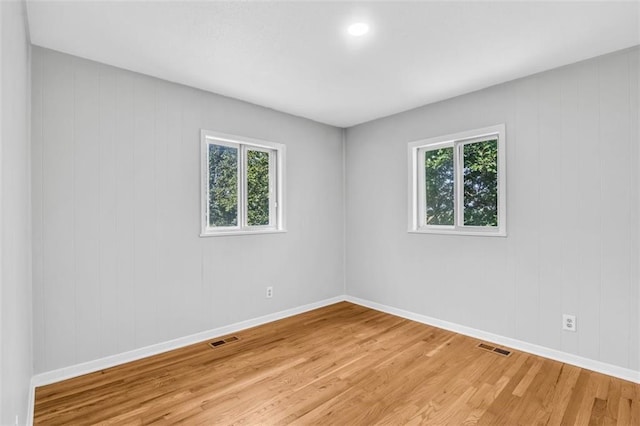
[[[180,337],[168,342],[157,343],[155,345],[146,346],[140,349],[123,352],[121,354],[111,355],[99,358],[93,361],[84,362],[82,364],[72,365],[57,370],[47,371],[45,373],[36,374],[31,380],[32,391],[37,386],[44,386],[73,377],[82,376],[84,374],[93,373],[104,370],[106,368],[115,367],[131,361],[136,361],[152,355],[157,355],[173,349],[182,348],[194,343],[202,342],[214,337],[224,336],[225,334],[236,333],[247,328],[273,322],[279,319],[287,318],[323,306],[332,305],[334,303],[345,300],[344,296],[336,296],[330,299],[321,300],[319,302],[309,303],[307,305],[298,306],[296,308],[287,309],[273,314],[264,315],[246,321],[237,322],[235,324],[226,325],[224,327],[214,328],[212,330],[202,331],[200,333],[191,334],[189,336]],[[31,411],[33,413],[33,410]]]

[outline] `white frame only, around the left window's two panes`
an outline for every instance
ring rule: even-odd
[[[200,131],[201,139],[201,237],[224,235],[271,234],[285,228],[285,153],[286,146],[244,136],[211,130]],[[221,145],[238,150],[238,220],[237,226],[209,226],[209,146]],[[269,153],[269,221],[268,225],[248,225],[246,163],[248,151]]]

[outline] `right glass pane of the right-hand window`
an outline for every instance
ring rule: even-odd
[[[498,226],[498,140],[463,146],[464,224]]]

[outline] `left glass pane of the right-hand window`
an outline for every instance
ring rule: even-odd
[[[425,156],[425,224],[453,225],[453,147]]]

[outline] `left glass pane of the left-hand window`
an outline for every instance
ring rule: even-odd
[[[209,226],[238,226],[238,149],[209,145]]]

